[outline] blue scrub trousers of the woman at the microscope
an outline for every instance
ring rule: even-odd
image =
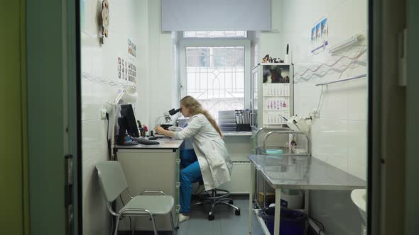
[[[197,155],[193,149],[180,151],[180,213],[190,212],[190,198],[192,197],[192,184],[202,180],[202,173]]]

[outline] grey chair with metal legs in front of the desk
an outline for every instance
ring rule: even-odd
[[[169,214],[172,225],[173,234],[175,227],[173,224],[172,209],[175,200],[173,197],[165,195],[162,191],[144,191],[141,195],[131,196],[126,183],[124,171],[118,161],[104,161],[96,165],[99,183],[104,193],[109,212],[116,217],[115,235],[118,234],[119,219],[121,217],[136,217],[148,215],[153,223],[154,234],[157,235],[156,222],[154,215]],[[126,190],[127,195],[131,198],[119,211],[114,212],[111,202]],[[161,195],[143,195],[145,193],[159,193]]]

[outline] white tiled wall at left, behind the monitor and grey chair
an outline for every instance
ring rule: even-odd
[[[83,234],[109,234],[109,212],[97,178],[96,164],[109,159],[108,123],[100,110],[116,98],[129,81],[118,79],[117,59],[128,58],[127,39],[136,43],[137,86],[147,79],[148,18],[146,0],[109,0],[109,37],[99,42],[101,0],[85,0],[85,25],[82,25],[82,178]],[[82,13],[83,14],[83,13]],[[147,94],[138,89],[138,100]],[[146,103],[146,102],[145,102]],[[137,103],[136,111],[141,104]],[[143,113],[137,113],[142,120]],[[110,136],[110,134],[109,134]]]

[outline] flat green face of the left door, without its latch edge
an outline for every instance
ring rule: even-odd
[[[26,3],[31,234],[65,234],[66,1]]]

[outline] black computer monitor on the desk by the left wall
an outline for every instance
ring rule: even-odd
[[[132,105],[121,105],[121,117],[118,118],[119,134],[116,144],[124,144],[126,132],[132,137],[140,137]]]

